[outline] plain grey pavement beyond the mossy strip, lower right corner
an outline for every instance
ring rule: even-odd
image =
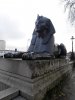
[[[73,69],[72,77],[66,82],[62,91],[64,96],[62,96],[61,100],[75,100],[75,69]]]

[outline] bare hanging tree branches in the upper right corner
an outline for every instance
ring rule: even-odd
[[[65,11],[68,10],[68,18],[72,24],[75,24],[75,0],[64,0]]]

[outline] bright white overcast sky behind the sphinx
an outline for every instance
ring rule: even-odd
[[[39,14],[50,18],[54,24],[55,43],[64,43],[67,50],[71,51],[70,38],[75,30],[71,28],[60,1],[0,0],[0,39],[6,41],[6,49],[28,48]]]

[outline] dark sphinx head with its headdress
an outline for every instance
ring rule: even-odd
[[[54,26],[52,22],[50,21],[50,19],[43,17],[43,16],[39,16],[39,15],[35,22],[35,31],[38,33],[39,37],[44,37],[49,32],[50,34],[55,33]]]

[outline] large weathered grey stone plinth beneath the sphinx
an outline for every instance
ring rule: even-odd
[[[72,62],[65,59],[23,61],[0,58],[0,81],[17,88],[27,100],[42,100],[45,93],[71,70]]]

